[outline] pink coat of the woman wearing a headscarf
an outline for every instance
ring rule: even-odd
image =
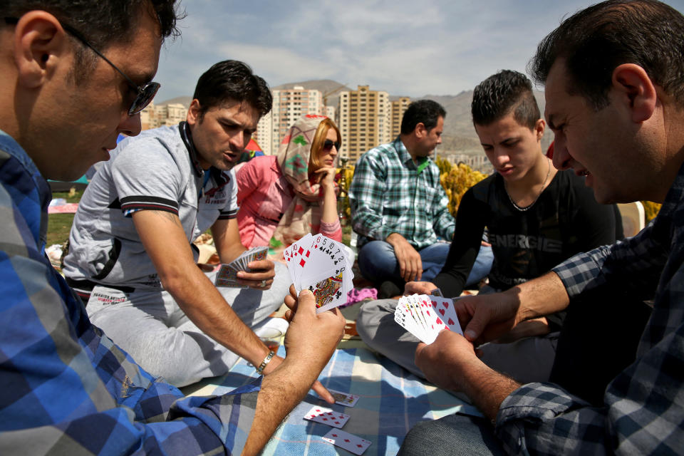
[[[273,233],[294,198],[275,155],[254,157],[237,172],[237,222],[240,240],[247,247],[269,245]],[[311,227],[311,234],[342,241],[339,223]]]

